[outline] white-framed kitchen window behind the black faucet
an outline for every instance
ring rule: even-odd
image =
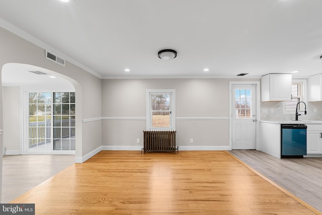
[[[292,81],[292,99],[291,101],[283,102],[283,114],[295,114],[296,105],[298,102],[306,102],[305,98],[305,80],[293,80]],[[304,104],[300,103],[297,110],[304,111]]]

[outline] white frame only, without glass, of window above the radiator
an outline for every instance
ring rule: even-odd
[[[164,93],[164,94],[171,94],[170,100],[170,127],[169,128],[153,128],[152,127],[152,118],[151,118],[151,101],[150,95],[155,93]],[[171,129],[176,130],[176,90],[175,89],[147,89],[146,90],[146,129],[156,130],[156,129]]]

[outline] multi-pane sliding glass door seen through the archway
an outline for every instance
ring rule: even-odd
[[[30,152],[75,150],[75,93],[28,93]]]

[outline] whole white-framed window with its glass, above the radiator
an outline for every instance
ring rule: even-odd
[[[175,90],[146,91],[147,129],[175,129]]]

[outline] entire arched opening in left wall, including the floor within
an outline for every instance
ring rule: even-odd
[[[52,78],[49,76],[52,76]],[[5,131],[3,135],[3,154],[24,155],[19,156],[19,158],[17,156],[3,157],[3,172],[5,174],[2,177],[4,185],[2,201],[7,203],[74,163],[76,148],[74,135],[76,128],[74,113],[75,87],[66,77],[54,71],[21,63],[7,63],[3,66],[2,86],[3,129]],[[63,99],[64,102],[60,102],[59,106],[66,106],[67,93],[68,115],[62,115],[62,113],[53,114],[52,110],[54,108],[52,106],[58,105],[58,102],[53,102],[52,100]],[[38,99],[32,101],[29,99],[30,95],[38,95]],[[50,102],[46,100],[48,97],[50,97]],[[39,102],[42,100],[39,98],[46,99],[42,103]],[[46,105],[51,106],[48,108],[50,113],[47,111]],[[34,113],[29,114],[29,106],[36,106]],[[60,127],[57,126],[57,120],[56,126],[54,126],[54,118],[59,117],[61,119]],[[49,124],[49,121],[45,120],[48,118],[50,119]],[[66,121],[68,121],[68,126],[61,126],[62,122],[66,124]],[[36,125],[36,128],[31,128],[33,126],[30,125]],[[66,130],[68,127],[69,138],[66,138],[66,135],[53,136],[54,127],[56,131],[58,129],[60,131]],[[72,133],[70,132],[71,129],[73,130]],[[34,132],[36,136],[30,136],[29,130],[36,131]],[[47,132],[46,134],[46,131],[49,131],[49,133]],[[45,135],[42,136],[44,133]],[[56,134],[61,134],[61,132],[56,132]],[[48,138],[42,140],[43,137]],[[31,144],[30,140],[35,140],[36,144]],[[59,145],[62,149],[64,146],[62,142],[66,141],[69,142],[69,150],[60,150],[60,152],[53,150],[54,146],[58,147]],[[71,148],[70,145],[72,145]],[[46,147],[49,150],[42,150],[46,149]],[[66,155],[61,154],[71,155],[66,157]],[[32,155],[35,155],[36,159]],[[21,175],[21,177],[16,177],[17,175]],[[24,183],[21,183],[21,180]],[[12,192],[12,190],[16,191]]]

